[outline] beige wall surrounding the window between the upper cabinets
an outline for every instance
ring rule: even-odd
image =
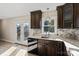
[[[47,12],[43,12],[43,16],[42,16],[42,26],[44,24],[44,21],[47,20],[47,17],[50,17],[50,20],[54,20],[54,28],[55,28],[55,32],[54,34],[57,33],[57,11],[56,10],[51,10],[51,11],[48,11],[48,15],[47,15]],[[49,21],[50,21],[49,20]],[[42,34],[44,33],[43,31],[43,28],[42,28]],[[52,33],[53,34],[53,33]]]

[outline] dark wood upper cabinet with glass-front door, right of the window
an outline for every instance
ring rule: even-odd
[[[58,28],[79,28],[79,4],[66,3],[57,7]]]

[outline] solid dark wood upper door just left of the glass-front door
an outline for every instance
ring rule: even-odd
[[[63,6],[57,7],[58,28],[63,28]]]

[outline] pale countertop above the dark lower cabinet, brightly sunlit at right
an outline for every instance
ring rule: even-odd
[[[71,39],[64,39],[64,38],[41,38],[38,36],[30,36],[29,38],[36,38],[41,40],[55,40],[55,41],[63,41],[65,43],[65,46],[67,48],[67,51],[73,54],[74,56],[79,56],[79,44],[76,43],[78,41],[72,40],[72,42],[75,42],[74,44],[71,42]],[[67,41],[68,40],[68,41]],[[69,42],[70,40],[70,42]],[[76,44],[76,45],[75,45]],[[78,45],[78,46],[77,46]]]

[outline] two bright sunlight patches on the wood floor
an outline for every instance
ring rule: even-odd
[[[10,56],[16,49],[17,47],[12,46],[7,51],[2,53],[0,56]],[[27,50],[20,49],[15,56],[25,56],[25,55],[28,55]]]

